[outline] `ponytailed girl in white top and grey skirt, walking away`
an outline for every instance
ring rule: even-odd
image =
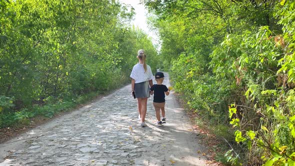
[[[137,52],[138,63],[133,66],[130,77],[131,79],[131,93],[135,93],[138,104],[138,118],[141,126],[146,126],[144,122],[146,114],[146,103],[149,94],[149,87],[152,86],[152,72],[150,66],[146,64],[146,55],[143,49]]]

